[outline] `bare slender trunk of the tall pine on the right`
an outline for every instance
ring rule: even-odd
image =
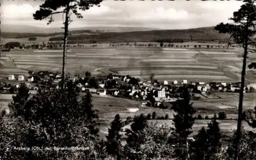
[[[237,135],[235,141],[236,152],[234,153],[234,160],[238,160],[239,152],[239,140],[241,136],[241,125],[242,125],[242,111],[243,111],[243,97],[244,97],[244,82],[245,82],[245,70],[246,70],[246,58],[247,58],[247,48],[248,48],[248,39],[245,40],[244,45],[244,59],[243,59],[243,68],[241,75],[241,89],[239,96],[239,107],[238,107],[238,126],[237,126]]]

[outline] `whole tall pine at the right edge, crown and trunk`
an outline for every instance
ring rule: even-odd
[[[255,47],[256,43],[254,41],[255,31],[255,22],[256,22],[256,6],[253,0],[244,0],[244,4],[241,8],[233,12],[233,17],[229,18],[232,20],[232,24],[219,24],[215,27],[219,33],[228,33],[230,38],[233,39],[234,43],[243,47],[243,66],[241,72],[241,89],[239,94],[239,107],[238,107],[238,126],[237,126],[237,139],[236,139],[236,155],[234,160],[240,159],[238,157],[239,152],[239,139],[240,139],[240,130],[242,126],[242,111],[243,111],[243,97],[244,97],[244,83],[245,83],[245,74],[246,74],[246,59],[250,52],[256,52],[255,49],[250,49],[250,46]],[[229,45],[228,45],[229,46]],[[252,68],[256,63],[251,63],[248,67]]]

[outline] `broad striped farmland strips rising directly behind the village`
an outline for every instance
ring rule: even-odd
[[[2,55],[13,58],[16,66],[24,70],[61,71],[62,50],[11,50]],[[182,79],[237,82],[241,67],[238,50],[86,47],[71,48],[67,54],[67,72],[100,74],[110,70],[142,80],[148,80],[154,73],[156,79],[169,82]],[[249,72],[246,80],[255,82],[255,71]]]

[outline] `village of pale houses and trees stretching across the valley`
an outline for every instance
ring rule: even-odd
[[[0,82],[1,94],[15,94],[21,83],[25,83],[30,89],[30,94],[36,94],[38,89],[52,90],[60,88],[61,75],[47,71],[38,73],[29,72],[30,76],[9,75],[8,79],[2,79]],[[159,82],[158,80],[140,81],[138,78],[121,75],[106,75],[100,77],[91,77],[91,73],[87,72],[84,77],[68,77],[67,81],[72,81],[79,92],[91,92],[99,96],[113,96],[140,101],[144,104],[151,105],[154,101],[156,106],[162,106],[163,102],[175,102],[180,96],[184,86],[187,86],[192,93],[193,100],[199,100],[202,96],[208,97],[212,93],[226,92],[238,93],[240,83],[226,82],[190,82],[187,80],[173,81],[168,83],[167,80]],[[256,84],[246,84],[244,93],[254,92]],[[218,97],[218,96],[217,96]],[[154,100],[152,100],[152,98]],[[151,103],[150,103],[151,102]]]

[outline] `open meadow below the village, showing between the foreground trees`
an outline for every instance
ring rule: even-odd
[[[81,95],[82,96],[82,95]],[[195,116],[200,114],[202,117],[208,116],[212,118],[214,113],[225,111],[227,113],[227,119],[236,119],[237,118],[237,105],[238,105],[238,95],[232,93],[223,93],[218,96],[222,97],[221,99],[204,99],[200,101],[191,101],[193,102],[194,108],[197,110]],[[244,98],[244,110],[253,109],[255,103],[253,100],[256,100],[256,94],[245,94]],[[141,105],[140,102],[132,101],[129,99],[123,98],[113,98],[113,97],[100,97],[98,95],[93,95],[92,103],[95,109],[99,110],[100,118],[100,135],[102,138],[108,132],[110,123],[113,121],[115,115],[118,113],[121,119],[125,120],[127,117],[134,117],[135,115],[140,115],[143,113],[147,115],[155,111],[157,116],[165,116],[168,114],[169,118],[173,118],[174,111],[171,109],[160,109],[152,108]],[[8,108],[8,103],[12,101],[12,95],[1,95],[0,94],[0,110],[3,108]],[[138,108],[139,110],[133,112]],[[210,120],[196,120],[193,127],[195,133],[202,127],[207,126],[207,123]],[[172,125],[172,120],[150,120],[150,123],[156,123],[157,125]],[[231,135],[233,129],[236,129],[237,122],[235,120],[219,120],[220,128],[222,132],[226,135]],[[249,130],[251,129],[246,123],[243,123],[243,126]]]

